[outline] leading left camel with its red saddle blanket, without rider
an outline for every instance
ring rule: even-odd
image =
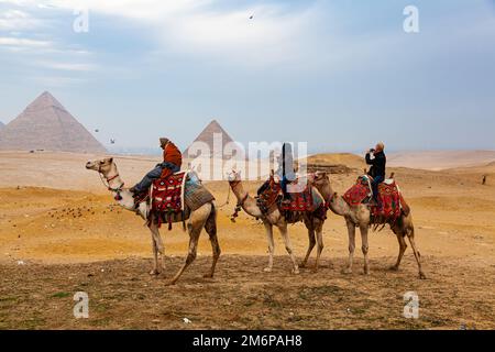
[[[202,186],[195,173],[178,173],[167,179],[158,179],[153,184],[150,197],[141,199],[138,207],[132,193],[123,188],[124,183],[119,175],[113,158],[88,162],[87,169],[96,170],[107,183],[108,190],[116,201],[127,210],[136,212],[150,228],[152,234],[154,265],[150,274],[158,275],[163,270],[164,246],[160,235],[160,227],[167,222],[187,221],[189,232],[189,252],[186,262],[167,284],[175,284],[184,271],[195,261],[199,235],[205,228],[210,237],[213,251],[213,263],[205,277],[213,277],[215,267],[220,256],[217,239],[217,208],[213,196]],[[158,261],[158,256],[161,260]]]

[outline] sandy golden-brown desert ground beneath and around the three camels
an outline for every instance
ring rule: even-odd
[[[359,250],[354,273],[341,274],[346,230],[334,215],[324,226],[319,273],[292,275],[278,234],[275,270],[263,273],[263,227],[244,213],[232,223],[231,199],[219,215],[223,255],[216,278],[202,278],[211,261],[204,235],[197,262],[176,286],[165,287],[164,277],[184,260],[187,234],[180,226],[162,230],[166,273],[150,277],[148,231],[140,218],[113,206],[98,175],[84,168],[88,158],[92,156],[0,153],[0,328],[495,328],[494,166],[391,169],[413,208],[427,280],[418,279],[410,250],[398,273],[387,270],[398,252],[388,229],[370,237],[370,276],[362,274]],[[154,157],[116,161],[128,185],[156,163]],[[484,174],[486,186],[481,185]],[[344,191],[356,175],[332,176],[334,188]],[[207,185],[223,204],[227,183]],[[289,231],[301,260],[308,243],[305,228],[296,224]],[[89,294],[89,319],[73,316],[78,290]],[[419,319],[403,317],[403,296],[410,290],[419,296]],[[193,323],[185,324],[185,317]]]

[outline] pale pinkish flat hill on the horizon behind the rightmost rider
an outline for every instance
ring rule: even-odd
[[[495,163],[495,151],[403,152],[387,154],[387,166],[430,170]]]

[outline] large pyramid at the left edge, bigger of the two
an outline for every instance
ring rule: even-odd
[[[105,146],[47,91],[0,130],[0,150],[107,152]]]

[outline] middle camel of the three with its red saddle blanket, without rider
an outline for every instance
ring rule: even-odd
[[[238,199],[238,206],[235,208],[233,219],[237,217],[237,213],[240,211],[240,209],[243,209],[251,217],[261,219],[263,221],[266,231],[266,237],[268,240],[268,266],[264,270],[265,272],[270,273],[272,272],[273,268],[273,256],[275,252],[273,227],[276,227],[278,228],[282,238],[284,239],[285,249],[287,250],[287,253],[293,262],[292,272],[294,274],[299,273],[299,266],[296,262],[293,245],[290,243],[290,238],[287,231],[287,224],[296,223],[299,221],[302,221],[305,223],[306,228],[308,229],[308,237],[309,237],[308,251],[306,253],[305,260],[301,263],[301,266],[302,267],[306,266],[315,245],[318,243],[317,258],[314,267],[315,272],[318,271],[321,252],[323,250],[323,223],[327,217],[324,209],[324,200],[317,191],[314,191],[314,189],[309,187],[305,189],[306,194],[302,193],[297,195],[293,201],[283,206],[277,201],[277,196],[279,195],[277,189],[279,190],[279,186],[277,186],[278,188],[276,188],[275,191],[270,191],[268,188],[267,193],[268,195],[266,197],[263,197],[263,195],[261,195],[260,198],[262,199],[255,199],[251,197],[249,193],[244,189],[241,182],[241,175],[239,173],[232,172],[229,175],[229,184],[233,194],[235,195],[235,198]],[[270,184],[271,187],[275,186],[273,185],[274,184],[273,176],[270,179]],[[299,200],[301,198],[297,198],[298,196],[306,197],[308,191],[311,195],[308,198],[310,198],[311,200],[301,201]],[[263,200],[263,205],[260,202],[260,200]],[[307,207],[312,206],[314,201],[318,202],[318,200],[320,201],[321,207],[316,206],[314,207],[314,209],[308,210]]]

